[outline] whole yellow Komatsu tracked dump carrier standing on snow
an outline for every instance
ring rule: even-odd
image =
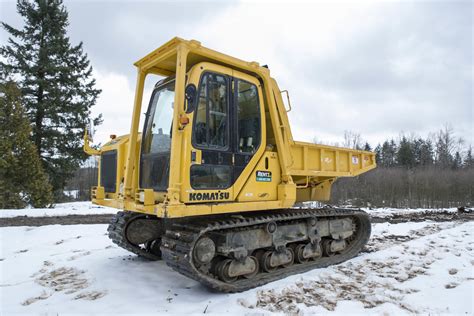
[[[289,98],[268,67],[180,38],[135,66],[130,134],[100,149],[90,134],[84,142],[100,156],[93,203],[121,209],[114,243],[224,292],[342,262],[366,244],[363,211],[294,205],[329,200],[338,177],[375,168],[374,154],[293,140]],[[151,74],[164,79],[139,133]]]

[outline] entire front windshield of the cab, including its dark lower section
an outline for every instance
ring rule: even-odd
[[[145,121],[140,159],[140,187],[155,191],[168,188],[174,80],[151,96]]]

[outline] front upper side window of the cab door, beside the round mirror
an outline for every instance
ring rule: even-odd
[[[227,86],[227,78],[223,75],[203,75],[193,133],[196,145],[215,149],[228,146]]]

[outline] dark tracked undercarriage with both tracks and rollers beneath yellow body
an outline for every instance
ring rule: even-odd
[[[356,209],[288,209],[166,220],[119,212],[114,243],[222,292],[240,292],[356,256],[370,237]]]

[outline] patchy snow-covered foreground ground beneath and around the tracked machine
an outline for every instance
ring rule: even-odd
[[[209,292],[163,262],[130,255],[106,228],[0,228],[0,313],[474,312],[474,222],[374,224],[357,258],[237,294]]]

